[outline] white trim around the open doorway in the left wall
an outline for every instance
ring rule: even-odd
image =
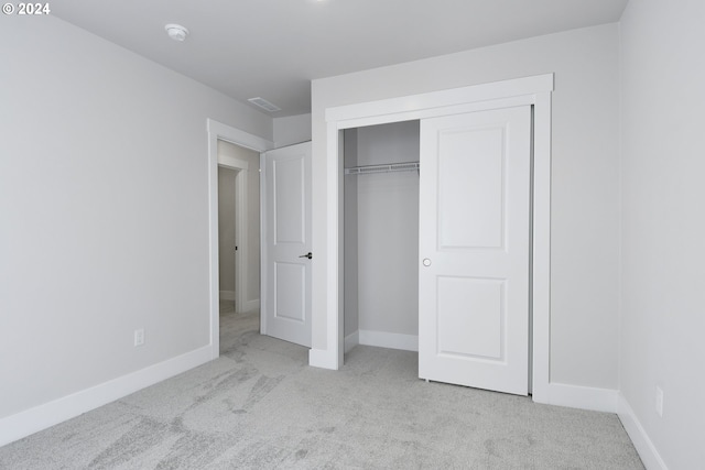
[[[227,141],[236,145],[243,146],[246,149],[253,150],[256,152],[265,152],[274,149],[274,142],[268,141],[260,136],[247,133],[230,125],[214,121],[213,119],[206,120],[206,128],[208,132],[208,253],[209,253],[209,276],[208,286],[210,293],[210,358],[216,359],[220,354],[220,324],[219,324],[219,276],[218,276],[218,140]],[[237,164],[236,159],[231,159]],[[246,163],[246,162],[242,162]],[[224,162],[224,166],[231,166],[228,162]],[[237,168],[237,167],[236,167]],[[246,163],[247,170],[247,163]],[[239,172],[238,176],[243,172]],[[238,185],[239,190],[242,190],[243,185]],[[239,196],[239,194],[238,194]],[[239,197],[239,201],[243,201],[243,198]],[[238,214],[245,215],[247,210],[240,210],[238,207]],[[238,243],[242,243],[242,240],[238,236]],[[245,271],[247,260],[241,260],[240,271]],[[238,272],[238,280],[243,282],[246,276]],[[239,282],[239,281],[238,281]],[[240,291],[245,293],[246,291]],[[245,296],[238,302],[245,302]]]

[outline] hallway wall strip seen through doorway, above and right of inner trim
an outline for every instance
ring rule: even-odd
[[[260,154],[253,150],[218,141],[218,155],[248,163],[247,170],[247,292],[248,309],[260,302]],[[223,168],[220,168],[223,170]]]

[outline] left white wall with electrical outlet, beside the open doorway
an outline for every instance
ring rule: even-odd
[[[272,121],[53,17],[0,55],[1,419],[208,345],[206,119]]]

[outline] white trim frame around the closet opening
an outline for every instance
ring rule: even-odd
[[[529,385],[533,401],[550,401],[551,289],[551,97],[554,75],[544,74],[449,90],[410,95],[326,109],[326,349],[312,349],[314,367],[338,369],[344,359],[343,336],[343,164],[341,133],[346,129],[423,120],[455,113],[532,106],[532,245]],[[422,168],[423,171],[423,168]],[[314,315],[314,321],[315,321]]]

